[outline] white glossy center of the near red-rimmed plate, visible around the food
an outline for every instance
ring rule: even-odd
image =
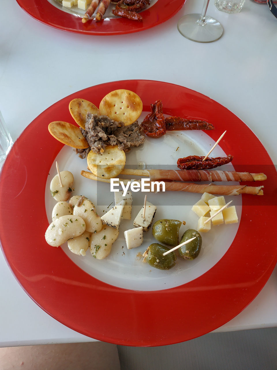
[[[221,132],[218,136],[220,134]],[[143,145],[126,154],[126,165],[137,168],[138,162],[144,162],[147,168],[154,165],[156,168],[165,168],[164,166],[168,165],[172,166],[172,169],[177,169],[176,162],[178,158],[188,155],[206,155],[214,143],[204,131],[168,132],[161,138],[146,138]],[[212,157],[219,156],[226,156],[226,154],[217,145],[212,152]],[[81,176],[81,170],[87,170],[86,159],[79,158],[72,148],[65,146],[59,152],[56,160],[60,171],[71,171],[74,175],[75,191],[72,192],[72,195],[85,195],[95,204],[100,216],[112,208],[114,194],[110,192],[110,185]],[[233,166],[228,164],[220,167],[220,169],[232,171]],[[54,161],[45,186],[45,208],[49,223],[52,222],[51,214],[55,205],[55,200],[50,194],[49,185],[56,173]],[[225,183],[217,184],[223,185]],[[144,233],[143,245],[130,250],[126,247],[123,232],[133,228],[134,218],[143,206],[145,194],[145,192],[133,192],[131,220],[121,221],[119,237],[106,259],[93,258],[89,249],[86,256],[78,256],[70,252],[67,244],[61,246],[61,248],[79,268],[96,279],[113,286],[143,291],[168,289],[187,283],[207,272],[223,257],[235,238],[239,223],[212,226],[211,231],[202,233],[202,249],[199,256],[193,261],[183,260],[177,256],[176,265],[168,271],[158,270],[144,263],[143,252],[151,243],[157,242],[152,235],[152,229]],[[200,198],[201,194],[187,192],[147,193],[147,200],[157,206],[153,223],[164,218],[186,222],[185,226],[181,225],[179,238],[187,229],[196,229],[198,216],[191,211],[191,208]],[[225,196],[225,200],[226,203],[230,200],[233,201],[232,205],[236,206],[240,220],[241,196]],[[112,204],[110,205],[110,203]]]

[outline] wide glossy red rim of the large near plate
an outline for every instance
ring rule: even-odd
[[[222,259],[202,276],[159,291],[134,291],[96,280],[76,266],[59,248],[44,240],[48,226],[45,183],[62,148],[48,133],[48,123],[72,121],[68,102],[82,97],[99,104],[112,90],[137,92],[149,111],[157,97],[164,113],[213,122],[228,130],[220,145],[234,155],[235,169],[267,174],[263,196],[242,196],[239,230]],[[231,129],[230,129],[231,128]],[[43,139],[42,139],[43,138]],[[1,246],[14,276],[48,314],[77,332],[106,342],[160,346],[208,333],[240,313],[260,292],[277,260],[277,174],[253,132],[232,112],[185,87],[159,81],[115,81],[86,88],[42,112],[14,143],[0,178]],[[253,184],[252,184],[253,185]],[[39,189],[39,191],[37,190]],[[18,237],[20,240],[18,240]]]

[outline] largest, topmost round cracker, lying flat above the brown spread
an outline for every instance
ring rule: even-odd
[[[134,123],[140,117],[142,108],[140,97],[135,92],[124,89],[109,92],[99,105],[100,115],[121,121],[124,126]]]

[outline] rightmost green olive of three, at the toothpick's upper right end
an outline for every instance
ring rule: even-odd
[[[202,238],[198,231],[194,229],[188,229],[186,232],[184,232],[180,244],[184,243],[186,240],[189,240],[191,238],[194,238],[196,236],[196,239],[191,240],[188,244],[185,244],[178,248],[179,255],[188,260],[195,259],[201,250],[202,246]]]

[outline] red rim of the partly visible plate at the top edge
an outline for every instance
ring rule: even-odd
[[[80,17],[57,9],[47,0],[17,0],[31,17],[59,30],[89,35],[118,35],[147,30],[161,24],[177,13],[185,0],[158,0],[149,9],[142,11],[142,22],[126,18],[110,18],[109,21],[82,23]]]

